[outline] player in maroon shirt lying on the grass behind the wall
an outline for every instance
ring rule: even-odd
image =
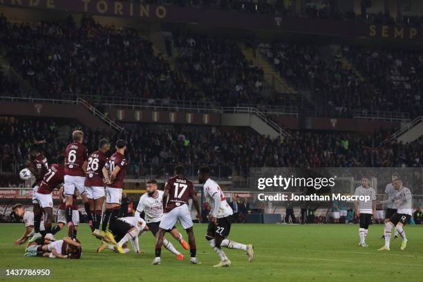
[[[25,256],[40,256],[52,259],[80,259],[82,245],[77,239],[65,237],[62,240],[46,241],[45,245],[28,243]]]

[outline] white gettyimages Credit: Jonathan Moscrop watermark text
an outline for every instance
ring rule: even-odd
[[[257,179],[257,189],[264,190],[266,188],[276,188],[288,190],[290,187],[302,187],[302,188],[314,188],[320,190],[321,188],[333,188],[335,187],[335,180],[337,176],[332,178],[306,178],[306,177],[284,177],[284,176],[273,176],[269,178],[258,178]],[[355,201],[355,200],[364,200],[370,201],[370,196],[355,196],[355,195],[344,195],[341,193],[332,193],[331,195],[300,195],[300,194],[283,194],[283,193],[274,193],[274,194],[264,194],[261,193],[258,195],[259,200],[261,201],[331,201],[331,200],[342,200],[342,201]]]

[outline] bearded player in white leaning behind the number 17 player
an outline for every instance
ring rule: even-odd
[[[158,190],[158,184],[156,180],[149,180],[147,182],[146,189],[147,193],[140,197],[140,201],[138,202],[138,206],[135,211],[135,216],[140,216],[140,214],[144,212],[144,218],[147,222],[147,226],[149,227],[151,234],[157,238],[160,221],[163,217],[164,192]],[[173,236],[173,238],[178,240],[180,245],[182,245],[185,250],[188,250],[189,246],[182,238],[182,234],[180,234],[178,229],[176,229],[176,226],[173,226],[169,233],[171,236]],[[178,252],[178,250],[176,250],[172,243],[167,241],[166,238],[163,238],[163,245],[167,250],[173,254],[176,254],[176,259],[178,259],[178,261],[182,261],[184,259],[184,255]]]

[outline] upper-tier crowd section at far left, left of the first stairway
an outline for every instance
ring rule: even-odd
[[[8,23],[0,37],[12,66],[39,93],[187,99],[190,89],[151,41],[134,28],[101,26],[84,17],[62,22]]]

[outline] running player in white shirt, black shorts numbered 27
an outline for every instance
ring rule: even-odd
[[[209,167],[200,167],[198,170],[198,182],[203,184],[205,198],[209,206],[212,207],[208,216],[209,227],[207,227],[206,239],[209,241],[210,246],[216,254],[220,256],[220,263],[214,265],[214,267],[231,265],[231,261],[229,261],[221,247],[243,250],[248,256],[248,261],[251,263],[254,256],[253,246],[236,243],[235,241],[227,239],[231,229],[232,214],[234,214],[234,212],[226,202],[225,196],[220,190],[219,185],[214,180],[210,179]]]

